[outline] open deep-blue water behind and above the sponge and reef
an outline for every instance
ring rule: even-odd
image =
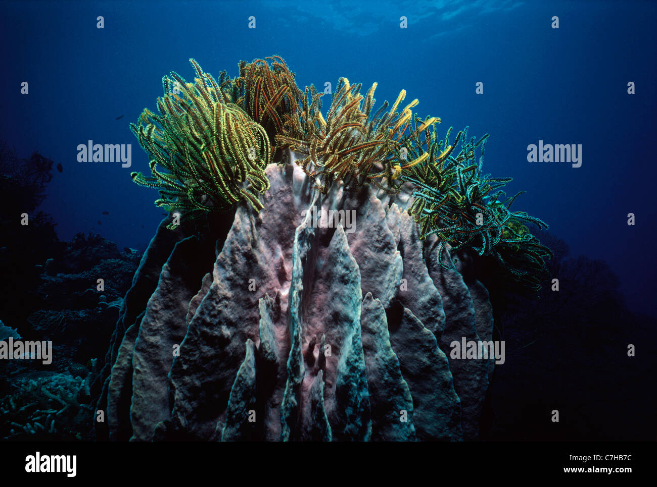
[[[443,131],[490,133],[486,172],[512,176],[511,194],[528,191],[515,209],[549,222],[572,255],[608,261],[629,306],[657,315],[656,3],[21,1],[0,9],[0,139],[20,157],[39,150],[62,164],[41,207],[61,239],[95,230],[144,249],[162,211],[156,191],[131,182],[131,171],[148,173],[148,160],[129,123],[156,110],[162,75],[192,79],[190,57],[215,76],[237,75],[239,60],[279,54],[300,87],[336,87],[345,76],[365,91],[376,81],[378,102],[405,89],[407,102],[419,98],[418,114],[442,118]],[[76,148],[89,139],[132,144],[132,167],[79,163]],[[529,163],[527,146],[539,140],[581,144],[581,167]]]

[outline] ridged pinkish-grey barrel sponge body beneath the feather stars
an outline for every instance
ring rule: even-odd
[[[225,241],[160,224],[106,358],[97,437],[478,438],[491,360],[443,350],[490,339],[486,289],[438,265],[436,239],[370,186],[323,195],[296,164],[266,174],[263,209],[239,205]],[[313,207],[355,212],[354,231]]]

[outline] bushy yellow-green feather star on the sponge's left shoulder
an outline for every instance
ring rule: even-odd
[[[158,188],[155,204],[197,217],[244,200],[256,209],[269,188],[264,169],[271,161],[265,129],[226,95],[212,75],[190,60],[198,77],[186,83],[176,73],[162,79],[160,115],[145,109],[131,124],[150,157],[152,178],[131,173],[137,184]],[[170,172],[157,169],[160,165]],[[175,228],[175,224],[170,225]]]

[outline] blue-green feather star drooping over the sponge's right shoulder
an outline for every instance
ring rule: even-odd
[[[470,249],[480,257],[494,257],[511,280],[537,291],[545,278],[545,260],[552,253],[523,222],[539,229],[548,228],[547,223],[524,211],[510,211],[524,191],[505,198],[499,188],[512,179],[482,173],[488,135],[468,140],[467,131],[468,127],[460,131],[453,144],[449,144],[451,128],[444,141],[436,142],[435,130],[424,140],[417,135],[404,140],[417,158],[399,167],[399,179],[415,186],[409,213],[419,224],[421,239],[436,234],[442,240],[438,261],[445,270],[454,268],[445,264],[443,242],[454,251]],[[422,150],[429,155],[419,160]]]

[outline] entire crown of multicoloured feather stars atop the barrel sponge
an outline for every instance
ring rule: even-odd
[[[218,83],[193,59],[195,83],[176,73],[163,78],[161,116],[145,109],[139,125],[131,124],[149,155],[154,178],[137,172],[132,177],[142,186],[160,189],[156,205],[183,210],[181,216],[191,219],[232,209],[240,200],[259,210],[257,195],[269,188],[263,170],[271,154],[286,148],[306,156],[298,163],[324,194],[334,183],[352,192],[369,183],[388,194],[406,185],[412,193],[408,211],[420,224],[420,239],[429,234],[440,238],[440,265],[445,265],[445,245],[455,251],[467,248],[495,257],[519,289],[539,291],[547,277],[545,259],[552,254],[523,222],[539,229],[547,224],[524,211],[510,211],[523,193],[505,198],[499,188],[510,178],[484,175],[487,134],[468,140],[466,127],[449,144],[450,128],[439,141],[439,117],[413,117],[417,98],[397,113],[404,90],[387,113],[386,101],[372,115],[376,83],[363,96],[361,84],[352,85],[344,77],[324,117],[315,87],[302,92],[284,60],[269,59],[272,68],[262,59],[242,61],[239,77],[222,72]],[[171,172],[158,171],[157,165]],[[169,228],[177,224],[175,220]]]

